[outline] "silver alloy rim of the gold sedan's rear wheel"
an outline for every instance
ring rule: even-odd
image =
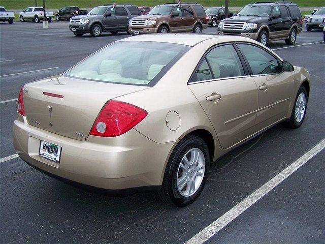
[[[205,157],[199,148],[192,148],[182,158],[177,170],[177,189],[184,197],[197,192],[205,172]]]

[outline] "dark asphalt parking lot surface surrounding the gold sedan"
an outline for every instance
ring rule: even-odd
[[[208,27],[204,33],[214,34]],[[66,185],[16,158],[12,124],[20,87],[60,74],[105,45],[128,37],[78,38],[68,22],[0,24],[1,243],[184,243],[325,138],[325,45],[304,31],[294,46],[269,44],[311,75],[304,124],[279,124],[225,155],[200,198],[177,208],[155,193],[114,197]],[[325,243],[325,150],[284,179],[206,243]],[[194,242],[193,242],[194,243]],[[196,242],[200,243],[200,242]]]

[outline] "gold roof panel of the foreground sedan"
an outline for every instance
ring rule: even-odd
[[[221,42],[228,41],[240,41],[244,38],[242,37],[233,37],[233,36],[217,36],[217,35],[203,35],[203,34],[150,34],[150,35],[137,35],[133,37],[128,37],[118,40],[118,42],[123,41],[144,41],[144,42],[167,42],[182,44],[187,46],[195,46],[200,42],[206,41],[208,39],[215,38]],[[247,38],[245,38],[247,39]],[[250,39],[248,39],[250,40]]]

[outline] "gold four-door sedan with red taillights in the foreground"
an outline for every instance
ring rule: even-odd
[[[281,121],[300,127],[309,93],[306,69],[251,39],[135,36],[24,85],[13,141],[53,177],[184,206],[223,154]]]

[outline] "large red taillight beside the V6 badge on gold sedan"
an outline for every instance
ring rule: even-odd
[[[147,116],[147,111],[121,101],[108,101],[97,116],[90,135],[114,137],[124,134]]]

